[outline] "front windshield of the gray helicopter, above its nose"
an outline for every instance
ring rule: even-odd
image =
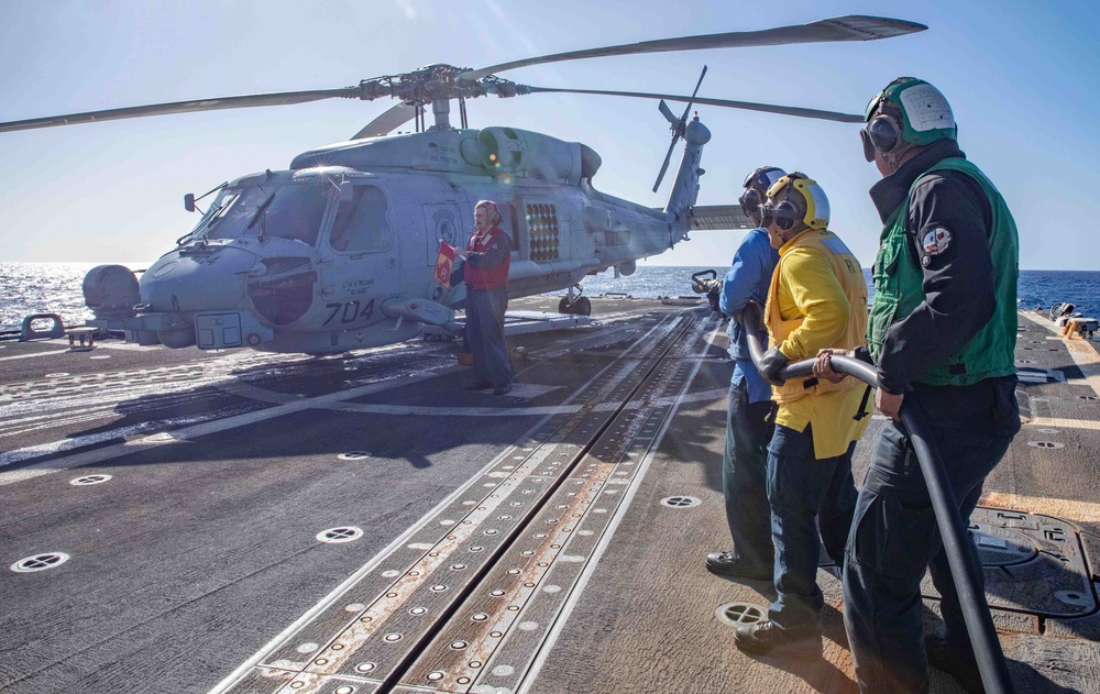
[[[314,245],[328,201],[329,191],[319,181],[226,189],[204,220],[201,235],[235,239],[248,232]]]

